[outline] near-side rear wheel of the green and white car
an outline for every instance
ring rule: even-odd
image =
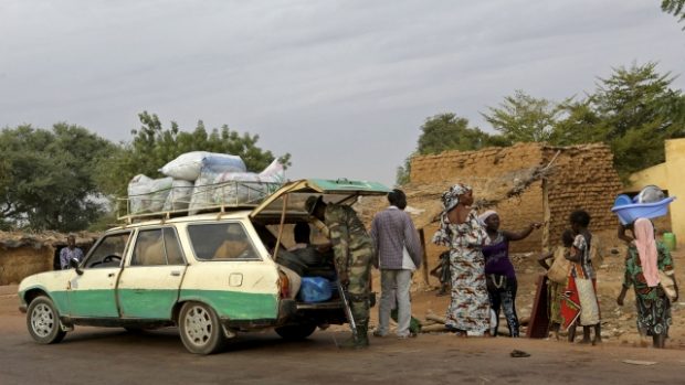
[[[219,317],[204,303],[183,303],[178,323],[181,341],[190,353],[212,354],[225,344]]]

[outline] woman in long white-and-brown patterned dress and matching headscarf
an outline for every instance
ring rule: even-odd
[[[489,299],[485,285],[485,258],[481,247],[487,233],[471,208],[473,190],[457,183],[442,194],[444,210],[433,243],[450,248],[452,299],[447,307],[447,329],[460,336],[487,334]]]

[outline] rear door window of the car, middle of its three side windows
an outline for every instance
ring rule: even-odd
[[[183,265],[183,256],[173,228],[154,228],[138,232],[130,259],[131,266]]]

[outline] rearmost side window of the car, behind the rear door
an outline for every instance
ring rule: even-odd
[[[190,243],[200,260],[259,259],[245,228],[240,223],[188,226]]]

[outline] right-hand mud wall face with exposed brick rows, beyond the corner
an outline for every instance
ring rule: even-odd
[[[590,231],[616,228],[619,221],[611,207],[622,184],[613,169],[611,150],[603,145],[546,147],[542,149],[545,161],[551,161],[557,151],[560,152],[554,162],[554,172],[546,181],[550,245],[560,243],[575,210],[590,213]]]

